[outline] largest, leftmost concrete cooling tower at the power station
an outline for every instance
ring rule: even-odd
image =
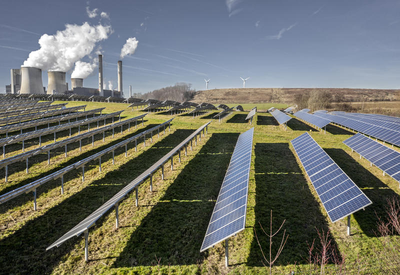
[[[21,89],[19,93],[44,93],[41,69],[21,67]]]

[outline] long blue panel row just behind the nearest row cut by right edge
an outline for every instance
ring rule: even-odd
[[[357,118],[355,115],[346,115],[341,112],[332,112],[335,115],[316,112],[315,115],[321,118],[330,119],[332,122],[353,129],[365,135],[378,138],[388,143],[400,146],[400,123],[383,122],[376,119]]]

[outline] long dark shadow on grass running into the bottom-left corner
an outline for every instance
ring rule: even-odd
[[[106,173],[101,179],[91,182],[78,193],[48,209],[41,216],[26,222],[22,228],[2,239],[0,274],[51,273],[82,237],[72,238],[59,248],[47,252],[46,247],[86,218],[192,132],[193,130],[178,129],[158,142],[155,140],[156,143],[147,151],[118,169]],[[124,151],[124,148],[121,150]],[[91,162],[95,169],[98,169],[97,163]],[[74,174],[76,176],[76,173]],[[51,185],[53,188],[58,188],[59,181],[53,181]],[[38,204],[40,209],[40,203]],[[104,217],[98,220],[96,226],[101,226],[103,219]]]

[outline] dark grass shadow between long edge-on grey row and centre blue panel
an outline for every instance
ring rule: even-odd
[[[204,259],[200,247],[207,230],[238,133],[213,133],[180,171],[116,259],[113,268],[196,265]],[[132,261],[134,259],[134,261]]]

